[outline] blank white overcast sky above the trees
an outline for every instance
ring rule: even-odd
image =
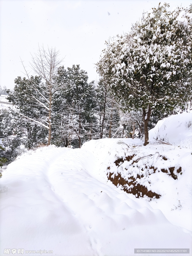
[[[80,64],[89,81],[96,80],[105,40],[129,32],[131,24],[160,0],[0,0],[0,85],[14,88],[14,79],[24,76],[38,44],[56,47],[65,57],[65,68]],[[170,9],[191,1],[167,1]],[[33,74],[33,73],[31,73]]]

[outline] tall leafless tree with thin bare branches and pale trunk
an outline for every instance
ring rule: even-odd
[[[62,59],[60,60],[58,56],[59,51],[56,51],[55,48],[48,48],[47,50],[45,50],[43,46],[41,48],[39,47],[38,53],[32,56],[32,62],[30,63],[30,66],[32,70],[36,74],[38,74],[39,78],[42,81],[41,83],[36,83],[34,80],[31,80],[31,77],[29,77],[29,73],[24,67],[29,81],[28,85],[33,91],[36,92],[36,95],[29,95],[30,100],[32,102],[35,102],[35,104],[38,103],[39,106],[47,111],[47,116],[42,122],[32,120],[29,116],[25,117],[35,122],[36,124],[42,125],[48,129],[48,145],[50,145],[51,141],[51,119],[53,116],[51,109],[52,95],[58,89],[57,84],[55,83],[55,76],[57,73],[57,68],[62,62]]]

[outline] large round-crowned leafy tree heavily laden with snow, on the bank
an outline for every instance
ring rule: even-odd
[[[169,4],[143,15],[131,33],[106,42],[97,71],[125,110],[143,111],[145,142],[151,113],[173,110],[191,97],[192,5]]]

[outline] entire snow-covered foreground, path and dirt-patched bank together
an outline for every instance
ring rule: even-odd
[[[24,249],[23,255],[52,250],[57,256],[131,256],[134,248],[191,252],[192,149],[142,144],[102,139],[81,149],[52,145],[19,156],[0,179],[0,255],[4,249]],[[126,193],[112,183],[115,175],[134,178],[159,198]]]

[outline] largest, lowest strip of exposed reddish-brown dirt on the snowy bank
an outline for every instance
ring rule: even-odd
[[[143,197],[144,195],[153,198],[155,196],[155,198],[159,198],[161,195],[156,194],[155,192],[152,192],[151,190],[148,191],[148,189],[143,186],[140,185],[139,183],[136,183],[136,179],[134,177],[130,177],[128,178],[128,180],[124,179],[121,177],[121,174],[118,173],[118,175],[114,174],[114,177],[111,177],[114,173],[108,173],[108,179],[112,181],[112,183],[115,186],[122,185],[123,186],[123,190],[128,193],[128,194],[133,194],[136,197]],[[141,179],[143,177],[143,175],[138,175],[137,174],[137,178]],[[131,188],[129,188],[128,186],[133,185]]]

